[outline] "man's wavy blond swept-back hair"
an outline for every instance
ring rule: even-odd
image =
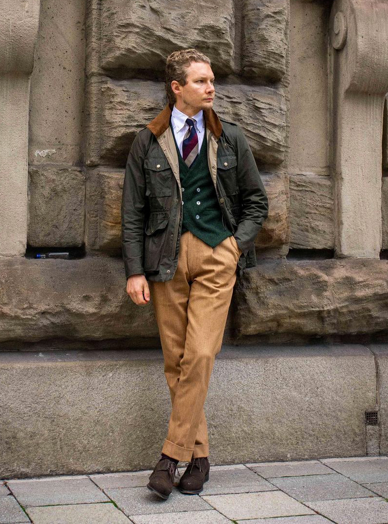
[[[165,91],[171,105],[175,103],[175,94],[171,89],[171,82],[176,80],[180,85],[186,85],[187,68],[190,67],[191,62],[205,62],[211,65],[209,57],[196,49],[173,51],[167,57],[165,65]]]

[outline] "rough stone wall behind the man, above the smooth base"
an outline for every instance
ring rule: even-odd
[[[121,191],[185,47],[212,60],[214,109],[243,129],[269,196],[225,341],[388,334],[383,0],[27,4],[0,62],[0,347],[158,343],[151,304],[125,292]],[[49,248],[84,256],[31,258]]]

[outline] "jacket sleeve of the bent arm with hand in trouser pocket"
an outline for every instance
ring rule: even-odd
[[[264,220],[268,216],[268,196],[247,139],[239,126],[236,126],[236,128],[237,182],[241,196],[242,213],[234,236],[243,255],[247,256]]]

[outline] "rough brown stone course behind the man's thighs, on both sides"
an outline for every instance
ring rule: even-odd
[[[263,259],[237,280],[224,343],[363,333],[388,333],[388,260]],[[121,258],[0,257],[0,342],[158,337],[152,304],[127,297]]]

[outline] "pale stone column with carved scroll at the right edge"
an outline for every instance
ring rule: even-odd
[[[330,13],[331,142],[338,257],[379,258],[388,4],[335,0]]]

